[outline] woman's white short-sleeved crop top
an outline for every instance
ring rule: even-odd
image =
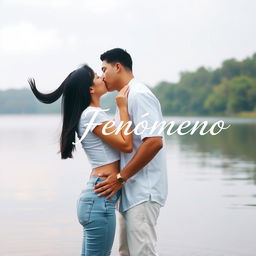
[[[83,111],[78,124],[79,139],[83,136],[87,124],[95,114],[95,111],[98,112],[99,110],[102,109],[100,107],[89,106]],[[102,123],[109,120],[111,120],[111,118],[105,112],[99,111],[93,123]],[[93,133],[93,129],[96,126],[97,124],[91,126],[85,138],[81,141],[92,168],[110,164],[120,159],[120,154],[117,150]]]

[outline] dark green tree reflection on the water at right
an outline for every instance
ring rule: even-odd
[[[167,141],[171,137],[167,137]],[[196,158],[201,166],[220,168],[223,180],[241,180],[256,185],[256,123],[232,124],[216,136],[175,135],[181,152]]]

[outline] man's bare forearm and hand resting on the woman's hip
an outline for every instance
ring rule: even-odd
[[[147,137],[143,140],[131,161],[121,170],[122,178],[126,181],[147,165],[163,147],[162,137]],[[102,173],[102,176],[104,173]],[[122,184],[117,180],[116,174],[111,174],[108,178],[95,186],[98,196],[109,194],[106,198],[112,197]]]

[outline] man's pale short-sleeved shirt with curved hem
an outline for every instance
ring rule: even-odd
[[[132,128],[134,129],[142,121],[147,122],[147,127],[152,127],[156,121],[159,123],[163,121],[160,103],[150,89],[134,78],[128,85],[130,88],[128,112],[133,122]],[[116,110],[115,121],[116,125],[120,123],[118,109]],[[159,129],[155,129],[153,133],[150,133],[150,129],[144,129],[143,131],[143,125],[139,125],[136,131],[140,135],[133,133],[133,152],[120,153],[120,170],[122,170],[135,155],[144,138],[162,137],[162,149],[144,168],[129,178],[123,186],[119,204],[121,212],[125,212],[133,206],[149,200],[157,202],[161,206],[165,204],[168,190],[166,150],[164,133],[158,133]]]

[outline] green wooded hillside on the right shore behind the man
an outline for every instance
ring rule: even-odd
[[[182,72],[178,83],[161,82],[152,89],[166,115],[233,115],[256,111],[256,53],[221,67]]]

